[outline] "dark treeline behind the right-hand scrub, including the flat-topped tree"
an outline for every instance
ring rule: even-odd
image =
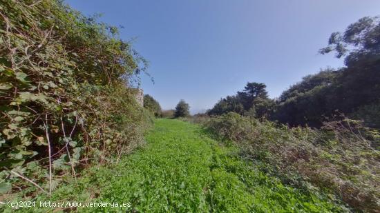
[[[344,115],[380,128],[379,17],[364,17],[345,32],[332,33],[319,52],[336,52],[337,58],[344,57],[345,67],[304,77],[278,99],[268,98],[264,83],[247,83],[243,91],[220,99],[207,114],[236,112],[313,127]]]

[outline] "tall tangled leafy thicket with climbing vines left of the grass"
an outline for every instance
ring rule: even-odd
[[[50,194],[142,141],[146,63],[117,28],[52,0],[1,1],[0,20],[2,193]]]

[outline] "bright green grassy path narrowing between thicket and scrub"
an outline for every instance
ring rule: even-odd
[[[35,201],[131,203],[124,208],[71,209],[79,212],[342,211],[321,195],[304,194],[259,172],[240,159],[234,146],[220,145],[198,125],[158,119],[145,139],[144,148],[120,163],[89,168],[77,184],[59,187],[50,199],[39,196]]]

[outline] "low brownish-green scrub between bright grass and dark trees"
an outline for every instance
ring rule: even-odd
[[[379,210],[380,153],[374,149],[379,132],[359,121],[333,121],[314,130],[229,112],[205,125],[286,183],[309,190],[311,183],[356,210]]]

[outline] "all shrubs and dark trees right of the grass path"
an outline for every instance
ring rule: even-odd
[[[334,32],[327,48],[320,50],[345,57],[345,68],[304,77],[274,100],[267,98],[263,83],[247,83],[242,92],[216,103],[207,112],[211,119],[190,120],[234,141],[244,156],[283,183],[316,187],[353,210],[377,212],[379,20],[359,19],[345,32]]]

